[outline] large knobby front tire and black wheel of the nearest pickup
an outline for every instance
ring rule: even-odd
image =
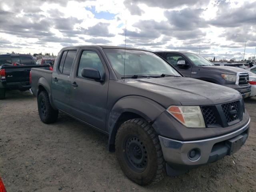
[[[144,119],[128,120],[120,126],[116,156],[124,174],[137,184],[155,184],[166,175],[158,136]]]

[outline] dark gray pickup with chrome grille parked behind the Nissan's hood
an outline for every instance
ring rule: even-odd
[[[184,76],[233,88],[243,98],[250,96],[249,75],[239,68],[214,66],[198,54],[189,52],[156,52],[178,69]],[[240,71],[239,71],[240,70]]]

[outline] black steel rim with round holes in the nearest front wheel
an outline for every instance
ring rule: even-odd
[[[130,136],[126,139],[124,147],[130,168],[136,172],[144,171],[148,165],[148,153],[143,142],[136,136]]]

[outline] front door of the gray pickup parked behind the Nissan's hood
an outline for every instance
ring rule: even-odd
[[[189,62],[182,57],[180,54],[174,54],[174,53],[167,53],[166,54],[166,60],[172,64],[178,71],[180,71],[185,77],[190,77],[191,76],[191,65]],[[185,63],[187,64],[186,67],[179,67],[177,66],[178,61],[184,60]]]

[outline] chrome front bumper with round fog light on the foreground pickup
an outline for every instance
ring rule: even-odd
[[[248,138],[250,119],[246,125],[238,130],[202,140],[179,141],[159,136],[164,159],[168,164],[180,166],[198,166],[219,160],[230,154],[228,142],[236,137],[241,138],[242,144]],[[200,156],[196,160],[190,160],[188,157],[192,149],[200,151]]]

